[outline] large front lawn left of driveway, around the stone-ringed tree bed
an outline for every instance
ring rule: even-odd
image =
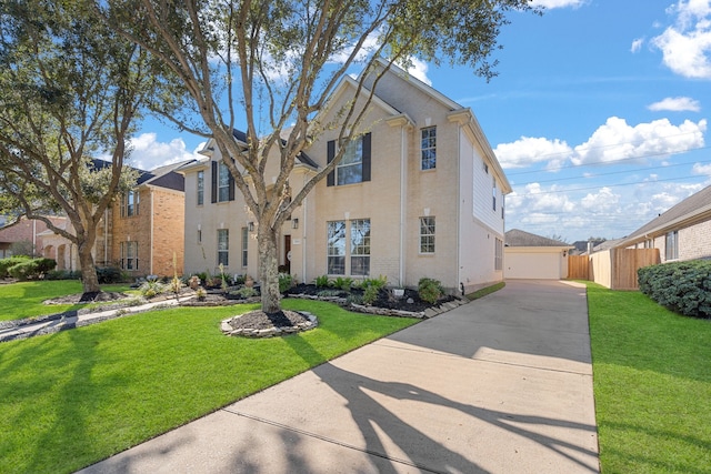
[[[0,344],[0,472],[73,472],[417,322],[283,306],[319,327],[226,337],[254,306],[181,307]]]

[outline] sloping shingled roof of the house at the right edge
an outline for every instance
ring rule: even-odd
[[[632,232],[623,240],[622,245],[629,245],[633,241],[667,233],[670,230],[680,229],[703,220],[711,220],[711,185],[690,195]]]

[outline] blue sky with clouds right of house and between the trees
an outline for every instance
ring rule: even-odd
[[[477,115],[513,192],[507,230],[622,238],[711,184],[711,0],[537,0],[499,38],[499,75],[418,63]],[[141,168],[203,141],[146,122]]]

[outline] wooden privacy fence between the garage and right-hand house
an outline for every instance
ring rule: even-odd
[[[590,280],[611,290],[639,290],[637,271],[660,263],[659,249],[610,249],[570,255],[568,278]]]

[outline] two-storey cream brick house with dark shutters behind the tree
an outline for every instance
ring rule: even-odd
[[[365,91],[372,87],[365,81]],[[357,83],[346,77],[318,117],[338,120]],[[279,236],[282,268],[299,281],[317,276],[388,278],[414,286],[438,279],[469,292],[503,279],[503,196],[510,184],[477,119],[393,67],[379,81],[363,133],[312,190]],[[327,130],[300,157],[292,193],[338,150]],[[244,141],[236,132],[238,141]],[[212,142],[186,175],[186,273],[258,276],[254,219],[236,192]],[[278,163],[279,160],[271,160]],[[267,177],[277,175],[276,169]]]

